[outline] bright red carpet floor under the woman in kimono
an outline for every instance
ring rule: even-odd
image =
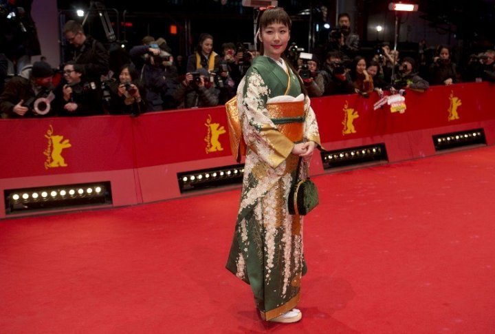
[[[495,147],[314,179],[298,324],[224,269],[239,190],[0,222],[0,333],[495,333]]]

